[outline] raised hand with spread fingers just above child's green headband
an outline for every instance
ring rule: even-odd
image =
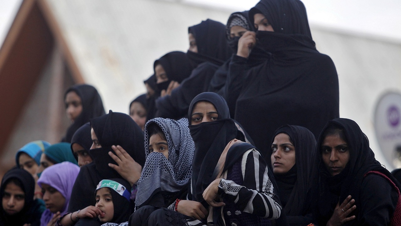
[[[133,186],[141,177],[142,166],[138,162],[135,162],[135,160],[121,146],[113,145],[111,148],[113,148],[117,156],[113,154],[113,152],[109,152],[109,156],[113,158],[118,165],[109,163],[109,166],[115,169],[119,175]]]

